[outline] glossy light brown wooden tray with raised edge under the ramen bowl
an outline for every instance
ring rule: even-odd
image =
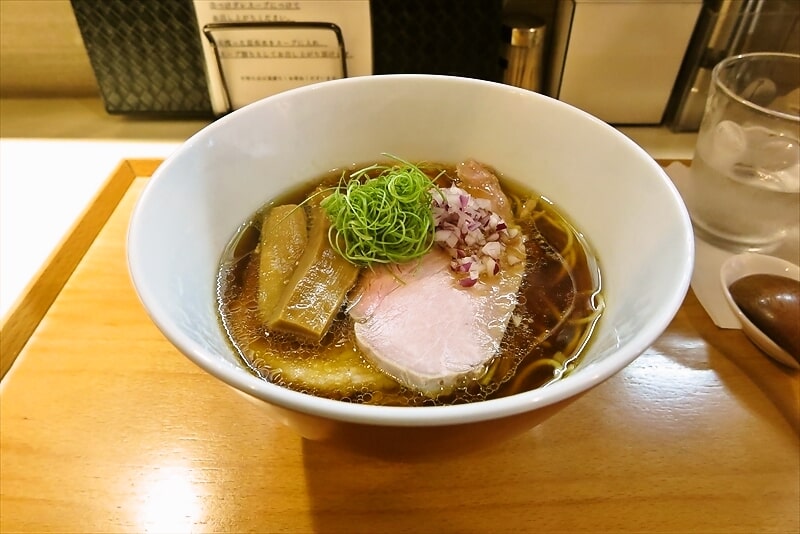
[[[488,450],[300,439],[140,306],[124,237],[157,165],[121,164],[3,325],[3,532],[800,532],[798,376],[691,292],[632,365]]]

